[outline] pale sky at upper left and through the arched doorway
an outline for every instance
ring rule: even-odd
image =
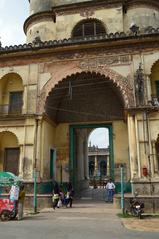
[[[0,0],[0,41],[2,47],[24,44],[26,36],[23,24],[29,16],[28,0]],[[108,147],[108,132],[96,129],[89,137],[92,145]]]

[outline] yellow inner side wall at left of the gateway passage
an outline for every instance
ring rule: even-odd
[[[60,181],[60,166],[63,167],[63,180],[68,179],[64,167],[69,163],[69,127],[68,124],[54,126],[51,122],[42,122],[41,132],[41,175],[50,177],[50,149],[56,151],[56,179]]]

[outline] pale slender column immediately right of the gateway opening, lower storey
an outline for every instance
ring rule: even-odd
[[[135,116],[128,115],[128,139],[129,139],[129,158],[130,158],[130,171],[131,179],[137,178],[138,175],[138,162],[137,162],[137,142],[135,130]]]

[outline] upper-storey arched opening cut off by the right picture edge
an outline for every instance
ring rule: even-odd
[[[151,92],[154,102],[158,101],[159,104],[159,61],[157,61],[151,70]]]

